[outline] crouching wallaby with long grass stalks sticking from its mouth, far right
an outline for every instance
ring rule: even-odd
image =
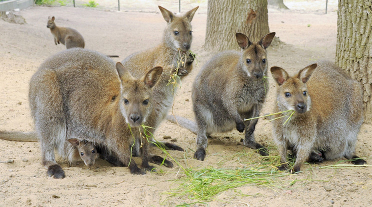
[[[287,118],[273,120],[279,169],[288,168],[287,149],[296,155],[292,172],[307,160],[358,158],[355,144],[363,122],[360,82],[330,61],[308,65],[294,76],[280,67],[270,70],[278,84],[274,112],[294,110],[287,122]],[[352,163],[366,162],[355,159]]]

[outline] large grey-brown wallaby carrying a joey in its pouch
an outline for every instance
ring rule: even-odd
[[[148,164],[148,142],[141,124],[152,111],[151,88],[161,67],[134,78],[120,62],[96,51],[72,48],[46,59],[29,84],[31,115],[49,176],[63,178],[54,148],[64,150],[68,137],[84,137],[107,147],[131,173],[143,174],[131,157],[133,142],[141,142],[142,168]],[[60,153],[61,154],[61,153]]]

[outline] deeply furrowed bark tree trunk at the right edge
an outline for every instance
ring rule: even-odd
[[[338,0],[336,63],[363,86],[364,122],[372,120],[372,2]]]

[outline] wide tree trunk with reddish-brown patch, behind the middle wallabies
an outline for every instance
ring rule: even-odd
[[[236,32],[252,42],[269,32],[267,0],[208,0],[204,49],[238,49]]]

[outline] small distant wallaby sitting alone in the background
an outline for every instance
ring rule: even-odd
[[[48,16],[46,27],[50,28],[50,32],[54,36],[55,45],[57,45],[57,43],[59,44],[60,42],[66,45],[66,49],[72,47],[84,48],[84,38],[82,38],[82,35],[78,31],[69,27],[57,26],[55,25],[54,19],[54,16],[52,16],[51,18],[50,16]]]

